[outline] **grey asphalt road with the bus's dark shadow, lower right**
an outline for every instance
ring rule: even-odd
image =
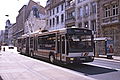
[[[78,65],[59,65],[97,80],[120,80],[120,61],[97,58]]]

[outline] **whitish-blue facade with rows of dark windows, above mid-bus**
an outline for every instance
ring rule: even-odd
[[[48,0],[46,13],[47,30],[65,28],[65,0]]]

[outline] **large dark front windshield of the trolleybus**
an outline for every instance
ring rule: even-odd
[[[93,51],[91,35],[69,35],[69,52],[90,52]]]

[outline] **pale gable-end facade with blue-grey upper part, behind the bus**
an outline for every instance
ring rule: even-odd
[[[44,30],[46,26],[45,18],[46,15],[44,7],[40,5],[34,5],[31,8],[31,12],[28,18],[26,19],[24,33],[30,34],[40,30]]]

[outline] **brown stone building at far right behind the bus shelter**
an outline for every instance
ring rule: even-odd
[[[120,55],[120,0],[99,0],[99,37],[113,40],[114,53]]]

